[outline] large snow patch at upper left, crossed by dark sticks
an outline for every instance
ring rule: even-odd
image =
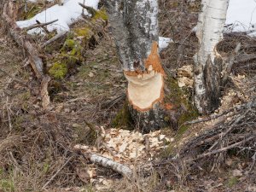
[[[30,0],[36,1],[36,0]],[[65,0],[63,5],[55,4],[49,9],[44,10],[43,12],[35,15],[30,20],[20,20],[17,21],[17,25],[20,28],[27,26],[32,26],[37,24],[36,20],[39,20],[41,23],[49,22],[52,20],[58,20],[55,23],[47,26],[49,32],[56,30],[58,33],[69,31],[69,26],[73,24],[74,21],[79,20],[82,14],[82,7],[79,3],[84,3],[84,0]],[[97,9],[99,0],[86,0],[85,5],[90,6],[94,9]],[[84,14],[88,15],[86,9],[84,9]],[[35,28],[30,30],[28,33],[44,33],[41,28]]]

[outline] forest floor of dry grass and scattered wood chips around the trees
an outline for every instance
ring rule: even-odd
[[[197,39],[191,30],[199,8],[198,1],[160,0],[160,35],[175,42],[161,52],[163,66],[172,79],[180,78],[178,68],[193,65]],[[72,31],[83,25],[83,21],[76,23]],[[45,39],[35,41],[39,44],[40,40]],[[51,62],[48,67],[61,55],[66,40],[61,39],[50,50],[44,49],[46,60]],[[216,114],[256,96],[256,38],[233,32],[224,36],[218,50],[228,56],[238,42],[241,52],[233,67],[233,84],[224,89]],[[178,145],[176,140],[188,139],[202,127],[214,124],[214,120],[183,131],[154,131],[147,135],[147,148],[146,136],[132,131],[127,123],[126,81],[108,26],[82,52],[83,59],[75,61],[64,77],[52,77],[50,105],[43,109],[38,96],[40,85],[33,78],[23,49],[2,32],[0,191],[256,191],[255,157],[252,160],[252,155],[242,150],[230,150],[219,162],[209,157],[192,166],[183,161],[166,163],[166,157],[172,156],[169,145]],[[247,60],[248,55],[253,59]],[[99,133],[91,127],[106,132],[104,139],[112,150],[99,146]],[[131,141],[129,146],[122,145],[125,141]],[[74,150],[77,144],[89,146],[93,153],[115,156],[115,160],[132,167],[135,176],[127,179],[91,164]],[[121,146],[125,148],[121,155],[111,156],[117,148],[116,152],[120,152]]]

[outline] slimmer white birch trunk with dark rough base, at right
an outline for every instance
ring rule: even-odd
[[[223,39],[229,0],[202,0],[196,36],[200,49],[195,55],[195,106],[199,113],[212,113],[220,102],[223,60],[216,46]]]

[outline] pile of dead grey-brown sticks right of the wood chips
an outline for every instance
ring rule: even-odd
[[[197,154],[195,157],[195,159],[201,159],[212,154],[223,153],[240,144],[252,145],[250,142],[255,139],[253,129],[256,122],[256,99],[253,98],[251,101],[230,110],[232,113],[228,115],[229,118],[223,115],[217,123],[199,131],[196,137],[194,132],[194,136],[191,135],[187,138],[188,142],[181,143],[179,155],[181,157],[189,156],[188,154],[194,156],[197,149],[204,148],[204,151],[207,150],[207,152]],[[243,140],[237,143],[237,139]],[[224,146],[224,143],[227,146]],[[229,143],[235,144],[230,145]]]

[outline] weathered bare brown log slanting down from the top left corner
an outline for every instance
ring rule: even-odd
[[[26,50],[26,54],[28,55],[28,58],[32,65],[32,69],[36,73],[36,76],[38,77],[38,79],[40,79],[43,75],[43,61],[38,56],[39,55],[38,51],[37,49],[35,49],[36,46],[32,44],[29,41],[29,39],[26,38],[26,35],[23,34],[20,27],[16,25],[15,20],[11,19],[13,17],[10,17],[10,16],[14,16],[12,14],[15,12],[13,10],[14,7],[15,5],[12,2],[4,4],[3,14],[0,16],[1,22],[3,23],[3,26],[5,26],[6,29],[8,30],[9,35],[12,38],[14,38],[15,42],[19,44],[20,47]]]

